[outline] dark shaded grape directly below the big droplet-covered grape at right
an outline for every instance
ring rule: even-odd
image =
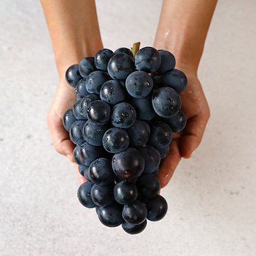
[[[153,147],[166,147],[172,142],[172,129],[165,122],[154,122],[150,131],[149,144]]]

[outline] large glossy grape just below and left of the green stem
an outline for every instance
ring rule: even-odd
[[[134,69],[134,60],[126,53],[113,55],[107,65],[109,75],[115,80],[125,80]]]

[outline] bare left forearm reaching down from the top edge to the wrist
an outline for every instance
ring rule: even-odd
[[[102,48],[94,0],[41,0],[60,78]]]

